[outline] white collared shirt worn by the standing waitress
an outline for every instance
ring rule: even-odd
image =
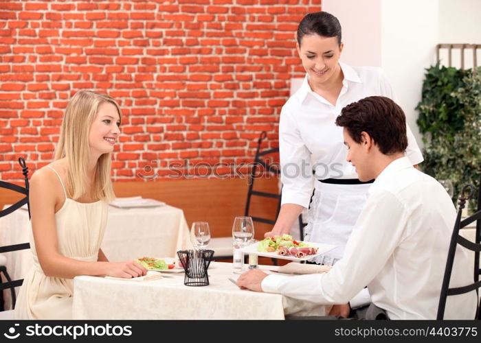
[[[364,97],[381,95],[396,101],[380,68],[339,64],[344,80],[335,106],[311,90],[308,75],[282,106],[279,122],[282,204],[308,207],[315,179],[358,178],[355,168],[346,162],[342,128],[335,125],[335,119],[342,108]],[[413,165],[421,163],[423,155],[409,126],[407,140],[407,157]]]

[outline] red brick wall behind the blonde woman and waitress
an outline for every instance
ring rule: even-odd
[[[0,178],[21,177],[19,156],[31,169],[51,161],[63,110],[82,88],[122,107],[114,180],[250,161],[263,130],[278,143],[289,79],[303,75],[294,33],[320,3],[0,2]]]

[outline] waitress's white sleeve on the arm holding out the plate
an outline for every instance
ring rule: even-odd
[[[309,207],[313,192],[311,152],[307,149],[293,113],[282,107],[279,121],[282,204]]]

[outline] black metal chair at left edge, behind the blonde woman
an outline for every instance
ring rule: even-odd
[[[16,191],[18,193],[21,193],[25,195],[25,198],[22,198],[21,200],[15,202],[11,206],[9,206],[7,209],[3,209],[0,211],[0,217],[4,217],[5,215],[9,215],[10,213],[18,210],[21,208],[21,206],[27,204],[28,208],[28,217],[30,218],[30,204],[28,201],[28,190],[29,190],[29,185],[28,185],[28,167],[25,164],[25,160],[23,158],[19,158],[19,164],[22,167],[22,174],[25,178],[25,187],[21,187],[18,185],[14,185],[9,182],[4,182],[0,181],[0,188],[5,188],[5,189],[10,189],[11,191]],[[29,243],[23,243],[23,244],[14,244],[11,246],[1,246],[0,247],[0,254],[3,254],[4,252],[12,252],[16,250],[24,250],[24,249],[30,249],[30,244]],[[14,280],[10,278],[10,275],[7,272],[7,268],[5,265],[0,265],[0,273],[3,273],[5,276],[5,279],[7,279],[7,282],[3,283],[0,278],[0,311],[3,311],[3,289],[9,289],[10,292],[12,292],[12,309],[15,308],[15,303],[16,303],[16,297],[15,297],[15,287],[19,287],[23,283],[23,279],[21,280]]]

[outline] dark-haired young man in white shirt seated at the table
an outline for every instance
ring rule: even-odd
[[[346,106],[336,124],[344,128],[347,161],[359,180],[376,179],[344,257],[326,274],[252,270],[237,285],[319,304],[346,304],[368,285],[372,304],[390,319],[435,319],[456,219],[451,198],[404,156],[405,115],[391,99],[361,99]],[[473,281],[467,265],[467,252],[458,246],[451,287]],[[346,314],[346,306],[338,313]],[[448,297],[446,319],[473,319],[475,313],[476,292]]]

